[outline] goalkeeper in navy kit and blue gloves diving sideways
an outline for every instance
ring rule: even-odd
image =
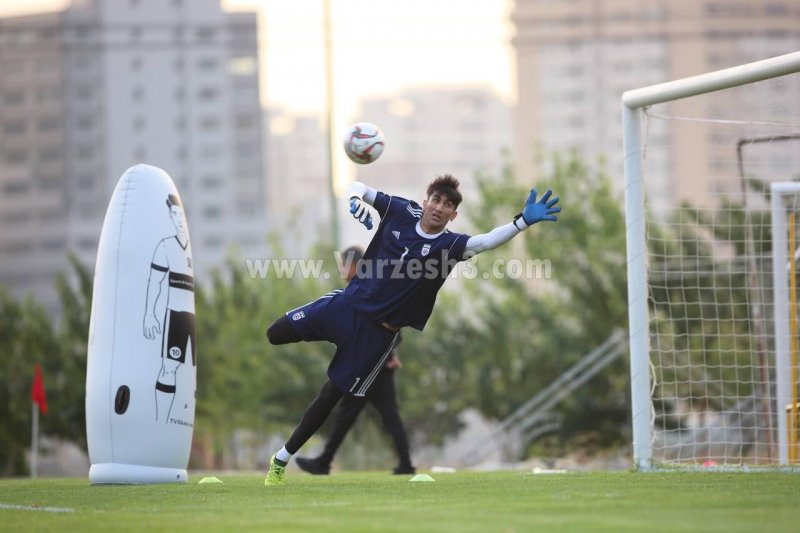
[[[512,222],[482,235],[453,233],[445,228],[458,215],[462,199],[458,187],[453,176],[439,176],[428,186],[420,206],[359,182],[351,184],[347,196],[353,217],[371,229],[367,205],[380,216],[355,279],[343,290],[287,312],[267,330],[274,345],[325,340],[336,345],[336,353],[328,366],[328,380],[289,440],[270,458],[265,485],[284,482],[289,460],[345,394],[366,395],[401,328],[425,327],[436,294],[459,261],[496,248],[537,222],[555,221],[561,211],[551,191],[537,199],[534,189]]]

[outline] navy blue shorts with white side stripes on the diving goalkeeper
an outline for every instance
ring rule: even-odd
[[[304,341],[336,345],[328,378],[342,392],[364,396],[386,364],[398,334],[367,320],[341,292],[329,292],[286,317]]]

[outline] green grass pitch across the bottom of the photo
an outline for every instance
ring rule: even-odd
[[[216,475],[224,484],[198,484]],[[0,480],[0,531],[797,531],[800,475],[192,474],[184,485]]]

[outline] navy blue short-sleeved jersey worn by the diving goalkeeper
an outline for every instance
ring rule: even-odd
[[[378,323],[422,330],[436,294],[464,260],[469,235],[425,235],[419,228],[422,207],[404,198],[378,192],[373,207],[381,222],[342,296]]]

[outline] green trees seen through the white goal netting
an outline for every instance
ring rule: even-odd
[[[763,183],[750,179],[747,185],[749,194],[763,196],[757,205],[769,205]],[[770,212],[758,207],[745,212],[741,202],[730,199],[714,209],[684,203],[670,222],[649,240],[651,323],[658,331],[661,382],[671,387],[656,394],[694,398],[696,405],[716,411],[734,409],[732,399],[769,398]],[[674,265],[681,266],[681,276],[670,275]],[[761,316],[755,312],[758,300]],[[715,392],[709,394],[709,388]],[[659,423],[679,427],[675,405],[662,405]],[[765,402],[764,412],[769,409]]]

